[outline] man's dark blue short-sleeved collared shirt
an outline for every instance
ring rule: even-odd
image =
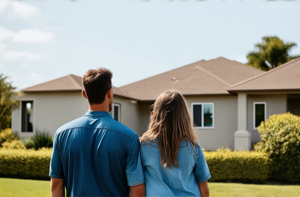
[[[49,176],[64,179],[67,196],[129,196],[145,182],[139,138],[108,112],[88,111],[56,131]]]

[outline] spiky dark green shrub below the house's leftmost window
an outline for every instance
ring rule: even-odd
[[[53,138],[48,132],[37,131],[33,137],[23,139],[26,148],[33,148],[38,150],[42,147],[51,148],[53,145]]]

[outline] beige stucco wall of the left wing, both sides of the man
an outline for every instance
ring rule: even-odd
[[[60,126],[81,117],[88,110],[88,102],[81,92],[27,93],[17,99],[33,101],[34,132],[48,131],[52,136]],[[113,102],[121,106],[121,123],[139,130],[137,103],[118,96],[114,96]],[[34,135],[34,132],[21,133],[21,105],[12,112],[12,131],[20,137]]]

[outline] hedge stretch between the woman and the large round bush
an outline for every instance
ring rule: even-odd
[[[223,149],[204,152],[212,182],[263,183],[268,179],[269,162],[264,153]]]

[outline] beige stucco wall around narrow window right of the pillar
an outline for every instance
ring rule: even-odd
[[[247,130],[251,133],[251,142],[259,142],[260,134],[253,129],[253,102],[266,102],[266,119],[273,114],[286,113],[286,94],[247,95]]]

